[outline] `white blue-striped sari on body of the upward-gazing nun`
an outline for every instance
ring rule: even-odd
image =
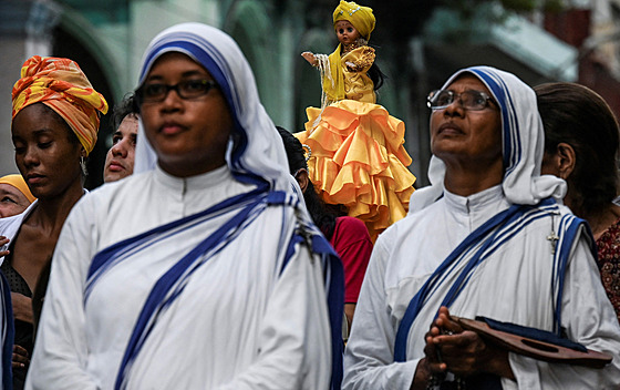
[[[506,213],[505,226],[485,232],[485,224],[498,212]],[[562,239],[572,228],[575,242]],[[440,306],[446,305],[455,316],[485,316],[548,331],[555,331],[559,320],[570,339],[614,357],[612,366],[593,370],[510,353],[519,386],[503,379],[504,389],[616,389],[620,327],[582,228],[551,199],[512,209],[499,186],[471,197],[445,193],[425,213],[395,224],[379,237],[369,264],[347,345],[343,388],[409,388],[424,357],[424,335]],[[562,237],[555,253],[546,238],[551,232]],[[519,239],[505,240],[514,235]],[[452,258],[467,237],[484,239]],[[483,249],[479,261],[478,249]],[[559,260],[564,254],[568,254],[566,264]],[[400,347],[402,359],[395,346],[414,297],[422,305],[416,305],[415,319]]]

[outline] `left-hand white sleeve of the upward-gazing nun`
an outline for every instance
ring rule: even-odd
[[[355,308],[355,321],[344,353],[343,389],[410,389],[420,359],[394,362],[396,324],[385,295],[390,243],[380,236]]]

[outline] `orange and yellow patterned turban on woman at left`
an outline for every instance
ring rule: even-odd
[[[99,131],[99,112],[107,112],[107,102],[96,92],[78,63],[69,59],[34,55],[21,68],[13,85],[14,119],[23,107],[43,103],[54,110],[91,153]]]

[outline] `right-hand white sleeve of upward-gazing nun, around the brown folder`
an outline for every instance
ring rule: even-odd
[[[581,238],[566,270],[561,318],[569,339],[606,352],[613,361],[603,369],[547,363],[510,353],[519,389],[618,389],[620,386],[620,326],[602,287],[600,275]],[[513,388],[515,383],[503,384]],[[505,386],[505,388],[507,388]]]

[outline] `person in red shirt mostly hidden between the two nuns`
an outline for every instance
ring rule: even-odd
[[[344,266],[344,314],[350,329],[372,252],[369,232],[360,219],[337,216],[321,201],[308,176],[307,161],[311,151],[304,153],[301,143],[294,135],[283,127],[278,126],[277,129],[285,143],[290,174],[293,175],[301,187],[301,192],[303,192],[306,207],[308,207],[312,220],[329,239]]]

